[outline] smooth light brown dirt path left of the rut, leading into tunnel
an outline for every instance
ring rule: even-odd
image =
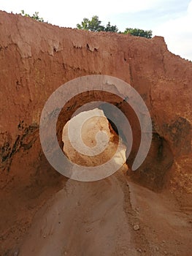
[[[137,255],[123,206],[116,176],[69,180],[37,214],[20,255]]]

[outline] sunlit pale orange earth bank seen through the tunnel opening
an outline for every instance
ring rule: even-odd
[[[85,118],[84,123],[82,123],[82,118]],[[70,137],[68,132],[69,122],[72,129]],[[80,125],[82,125],[82,129],[80,129]],[[62,140],[65,154],[73,162],[85,166],[102,165],[104,162],[109,161],[118,148],[118,135],[115,132],[114,134],[110,132],[109,125],[103,111],[99,109],[89,110],[74,116],[66,123],[63,129]],[[78,129],[80,129],[82,141],[79,136],[78,139],[74,136]],[[97,138],[98,140],[96,140],[98,132],[101,133],[100,137]],[[82,146],[87,146],[88,148],[85,148],[82,152]],[[120,157],[120,167],[126,162],[126,147],[122,145],[121,148],[123,148],[123,154]]]

